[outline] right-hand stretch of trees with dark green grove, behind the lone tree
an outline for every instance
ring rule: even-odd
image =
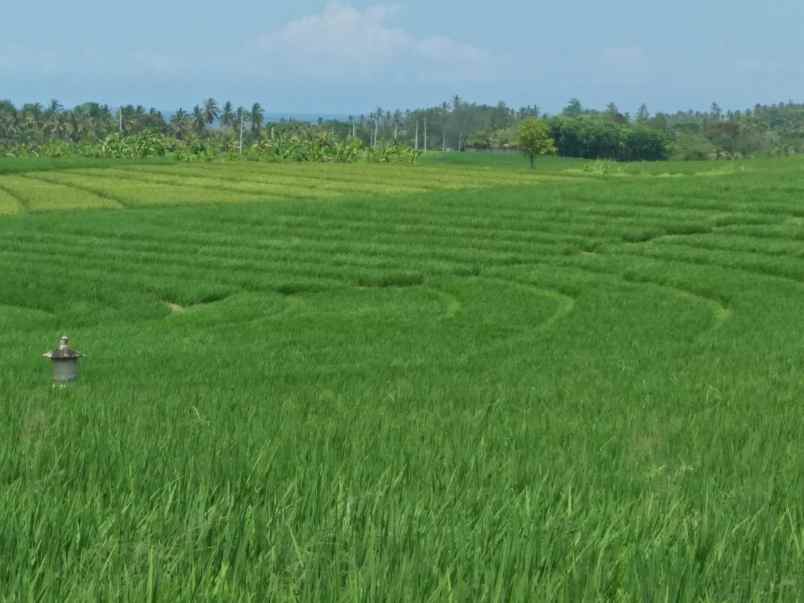
[[[603,111],[577,99],[556,116],[535,106],[513,109],[505,103],[484,105],[455,97],[451,103],[408,111],[382,111],[357,120],[371,140],[398,132],[415,148],[441,150],[516,150],[519,123],[547,121],[557,152],[565,157],[618,161],[659,159],[738,159],[804,152],[804,105],[792,102],[756,105],[744,111],[681,111],[652,115],[642,105],[635,115],[609,104]]]

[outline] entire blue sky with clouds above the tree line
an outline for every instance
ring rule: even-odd
[[[100,0],[0,13],[0,98],[160,109],[214,96],[360,113],[466,99],[556,112],[804,99],[801,0]]]

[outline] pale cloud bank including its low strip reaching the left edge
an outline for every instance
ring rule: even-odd
[[[284,24],[237,49],[208,47],[203,63],[175,48],[140,47],[62,53],[0,41],[0,74],[150,79],[248,78],[399,85],[408,82],[472,82],[493,79],[499,61],[485,50],[448,36],[421,36],[397,25],[401,8],[356,8],[333,2],[322,12]],[[495,62],[497,64],[495,64]],[[203,69],[199,65],[203,64]]]

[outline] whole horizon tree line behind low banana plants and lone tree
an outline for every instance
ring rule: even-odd
[[[13,149],[65,149],[158,134],[187,147],[239,154],[270,146],[270,141],[316,138],[329,140],[325,146],[348,142],[364,149],[406,147],[417,153],[517,150],[520,126],[532,118],[546,123],[556,152],[568,157],[723,159],[804,152],[804,105],[793,102],[742,111],[723,111],[713,103],[708,111],[656,114],[642,105],[631,115],[613,103],[596,110],[572,99],[551,116],[537,106],[487,105],[460,96],[422,109],[377,108],[317,123],[269,122],[260,103],[236,107],[214,98],[169,115],[134,105],[113,109],[90,102],[67,109],[55,100],[20,107],[0,101],[0,149],[6,154]]]

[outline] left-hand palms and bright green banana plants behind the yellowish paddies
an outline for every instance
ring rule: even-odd
[[[179,160],[246,158],[262,161],[415,163],[419,151],[399,140],[367,145],[361,138],[339,137],[322,124],[265,124],[259,104],[250,111],[218,109],[214,99],[192,114],[179,109],[170,121],[143,107],[123,107],[115,115],[108,106],[89,103],[64,110],[53,101],[17,110],[0,103],[0,155],[5,157]]]

